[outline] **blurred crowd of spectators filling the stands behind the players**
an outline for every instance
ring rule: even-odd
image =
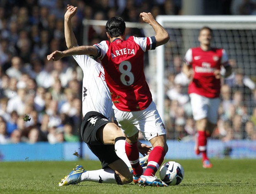
[[[231,14],[234,6],[234,14],[255,14],[254,0],[220,2],[230,7]],[[72,20],[78,45],[83,44],[84,18],[108,20],[121,16],[125,21],[140,22],[142,11],[151,12],[154,17],[182,14],[182,0],[1,0],[0,144],[80,141],[83,73],[72,57],[57,62],[46,59],[55,50],[66,50],[64,13],[68,4],[78,7]],[[127,29],[126,33],[144,35],[139,29]],[[88,39],[90,45],[107,40],[104,27],[91,26]],[[181,61],[178,57],[177,62]],[[242,78],[237,77],[239,72],[230,80],[223,80],[220,120],[214,138],[256,140],[256,108],[252,104],[256,102],[255,85],[243,74]],[[169,139],[185,140],[194,137],[195,128],[187,83],[177,80],[184,80],[180,69],[170,72],[166,80],[164,120]],[[245,90],[250,93],[250,104],[244,103]]]

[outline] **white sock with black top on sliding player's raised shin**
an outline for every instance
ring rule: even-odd
[[[125,137],[117,137],[115,139],[115,150],[116,150],[116,155],[126,163],[128,168],[131,168],[132,166],[130,165],[130,161],[127,158],[126,155],[126,139]]]

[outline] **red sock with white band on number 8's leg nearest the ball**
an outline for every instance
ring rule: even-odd
[[[165,154],[166,152],[164,151],[163,147],[154,147],[154,149],[149,154],[147,168],[143,175],[154,176],[156,171],[159,169],[159,166],[163,163]]]

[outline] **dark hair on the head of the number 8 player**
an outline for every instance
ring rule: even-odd
[[[106,24],[106,31],[111,38],[122,36],[126,29],[126,23],[121,17],[111,17]]]

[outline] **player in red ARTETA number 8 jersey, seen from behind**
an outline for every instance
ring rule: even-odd
[[[164,161],[168,146],[164,123],[152,101],[145,79],[143,61],[144,52],[167,43],[169,35],[151,13],[142,12],[140,17],[152,26],[156,35],[143,38],[130,36],[125,40],[125,22],[120,17],[112,17],[106,24],[110,42],[102,41],[93,46],[55,51],[47,59],[59,60],[70,55],[90,54],[101,60],[116,120],[126,134],[126,154],[133,167],[134,182],[140,185],[167,186],[154,176]],[[139,165],[137,149],[139,130],[153,146],[144,173]]]

